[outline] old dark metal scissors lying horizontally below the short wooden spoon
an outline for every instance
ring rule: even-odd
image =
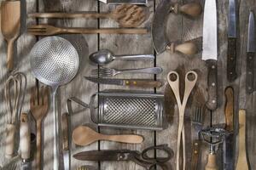
[[[153,150],[153,152],[150,152]],[[165,153],[163,157],[148,156],[150,153]],[[148,147],[139,152],[137,150],[90,150],[79,152],[73,157],[81,161],[134,161],[138,165],[145,167],[147,170],[153,170],[155,166],[161,167],[163,170],[168,170],[167,161],[173,156],[172,149],[167,144],[161,144]]]

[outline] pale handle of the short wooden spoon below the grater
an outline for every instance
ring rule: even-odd
[[[103,139],[128,144],[140,144],[143,142],[143,137],[137,134],[102,135],[101,140]]]

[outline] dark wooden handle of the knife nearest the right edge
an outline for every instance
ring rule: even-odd
[[[251,94],[254,91],[253,88],[253,63],[254,63],[254,53],[247,53],[247,94]]]

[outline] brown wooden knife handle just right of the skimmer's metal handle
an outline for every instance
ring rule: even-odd
[[[68,113],[62,114],[62,135],[63,135],[63,142],[62,142],[62,148],[63,150],[69,150],[68,145]]]

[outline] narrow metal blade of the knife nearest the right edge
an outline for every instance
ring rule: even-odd
[[[253,11],[250,11],[249,26],[248,26],[248,40],[247,40],[247,52],[255,53],[255,22]]]

